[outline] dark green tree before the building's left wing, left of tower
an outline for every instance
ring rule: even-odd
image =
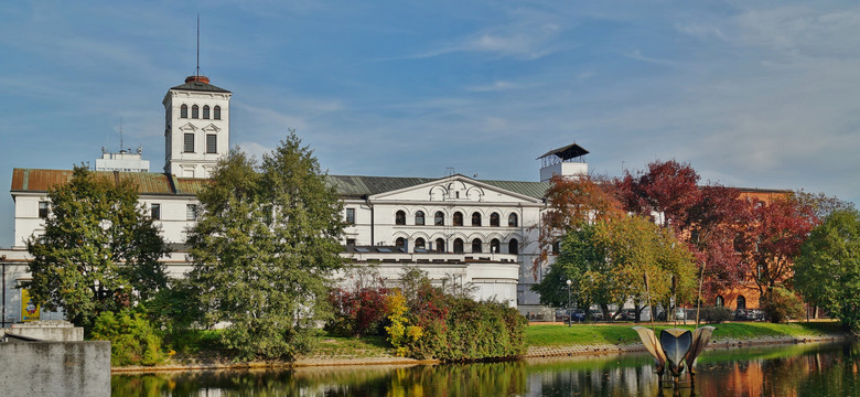
[[[32,280],[23,286],[45,309],[63,309],[89,330],[100,312],[133,305],[165,286],[159,259],[168,247],[130,180],[75,167],[47,197],[45,232],[26,243]]]

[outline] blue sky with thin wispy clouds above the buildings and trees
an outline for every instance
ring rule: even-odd
[[[860,203],[853,1],[3,2],[0,187],[119,149],[120,118],[161,170],[197,13],[201,69],[254,153],[295,128],[332,174],[535,181],[577,142],[599,174],[676,159]]]

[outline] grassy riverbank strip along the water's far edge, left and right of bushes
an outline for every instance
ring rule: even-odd
[[[631,328],[649,324],[533,324],[526,330],[529,347],[522,356],[553,357],[573,355],[600,355],[644,352],[636,332]],[[657,324],[656,331],[673,328],[673,324]],[[734,348],[752,345],[795,344],[832,342],[850,339],[851,335],[828,322],[811,323],[723,323],[716,324],[717,330],[708,344],[709,350]],[[678,324],[678,328],[692,330],[695,325]],[[332,337],[321,336],[316,347],[301,355],[294,363],[252,362],[232,363],[227,357],[211,352],[194,355],[176,355],[171,362],[154,367],[115,367],[112,372],[160,372],[197,369],[246,369],[271,367],[309,366],[348,366],[348,365],[419,365],[437,364],[438,361],[420,361],[398,357],[386,346],[379,336]]]

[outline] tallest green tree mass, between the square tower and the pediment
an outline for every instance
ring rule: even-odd
[[[308,347],[329,277],[342,267],[342,204],[291,132],[257,163],[233,150],[198,200],[190,285],[205,323],[228,322],[240,360],[291,360]]]

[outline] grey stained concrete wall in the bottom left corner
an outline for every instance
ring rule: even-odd
[[[110,396],[110,342],[0,343],[2,396]]]

